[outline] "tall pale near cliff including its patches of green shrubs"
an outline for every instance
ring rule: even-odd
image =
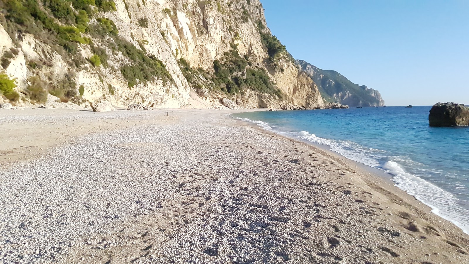
[[[323,108],[258,0],[3,0],[1,67],[29,105]]]

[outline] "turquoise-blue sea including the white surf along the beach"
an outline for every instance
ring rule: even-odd
[[[469,127],[428,125],[431,106],[234,114],[381,169],[396,186],[469,234]]]

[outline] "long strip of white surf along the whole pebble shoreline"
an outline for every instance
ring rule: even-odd
[[[386,171],[393,178],[393,182],[401,190],[414,196],[418,201],[423,202],[431,208],[431,211],[459,228],[464,233],[469,234],[469,210],[463,209],[459,204],[459,199],[442,188],[430,182],[408,173],[401,164],[410,167],[421,167],[424,165],[413,161],[408,157],[392,156],[388,152],[376,148],[367,148],[350,140],[332,140],[320,138],[310,132],[283,132],[273,129],[272,126],[260,120],[254,121],[248,118],[237,117],[237,119],[254,123],[260,127],[289,137],[299,138],[315,144],[329,147],[334,152],[354,160],[359,163]],[[428,169],[422,168],[422,172]],[[432,173],[440,173],[431,171]]]

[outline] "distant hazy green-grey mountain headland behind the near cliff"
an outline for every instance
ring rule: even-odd
[[[296,64],[318,85],[325,101],[350,107],[384,106],[384,100],[377,90],[354,84],[334,70],[321,70],[302,60],[297,60]]]

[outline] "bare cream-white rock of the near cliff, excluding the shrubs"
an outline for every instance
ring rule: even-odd
[[[199,107],[222,108],[220,99],[226,94],[217,92],[195,93],[184,78],[178,60],[184,58],[193,69],[213,71],[213,61],[221,58],[231,49],[230,43],[238,45],[241,56],[249,54],[250,61],[265,68],[277,87],[285,94],[282,99],[270,94],[247,90],[245,94],[229,98],[242,108],[280,108],[281,106],[324,107],[324,101],[316,85],[298,70],[289,59],[281,59],[276,69],[269,69],[265,63],[268,54],[262,44],[257,21],[264,25],[264,10],[259,0],[246,1],[200,1],[200,0],[114,0],[117,11],[99,13],[99,17],[112,20],[119,37],[140,48],[145,42],[147,54],[153,55],[166,65],[173,78],[171,83],[153,81],[137,84],[131,88],[119,70],[122,65],[131,63],[120,53],[106,46],[106,41],[93,39],[94,45],[103,47],[108,54],[109,67],[93,67],[89,62],[77,68],[67,62],[50,46],[22,34],[17,39],[20,52],[15,56],[7,72],[12,73],[18,82],[18,90],[27,89],[27,78],[38,76],[52,82],[68,78],[76,83],[76,90],[83,86],[83,99],[93,103],[106,100],[119,107],[135,103],[155,108],[179,108],[191,106],[197,101]],[[220,5],[218,6],[219,3]],[[165,9],[167,8],[167,9]],[[127,10],[128,9],[128,10]],[[167,12],[164,10],[170,10]],[[246,16],[245,11],[248,16]],[[146,19],[148,27],[141,27],[139,19]],[[96,23],[91,19],[90,23]],[[86,35],[86,37],[90,37]],[[13,47],[13,41],[0,26],[1,53]],[[93,52],[90,45],[80,45],[79,53],[84,59]],[[41,69],[30,69],[29,62],[46,62]],[[204,88],[204,87],[203,87]],[[248,96],[249,95],[249,96]]]

